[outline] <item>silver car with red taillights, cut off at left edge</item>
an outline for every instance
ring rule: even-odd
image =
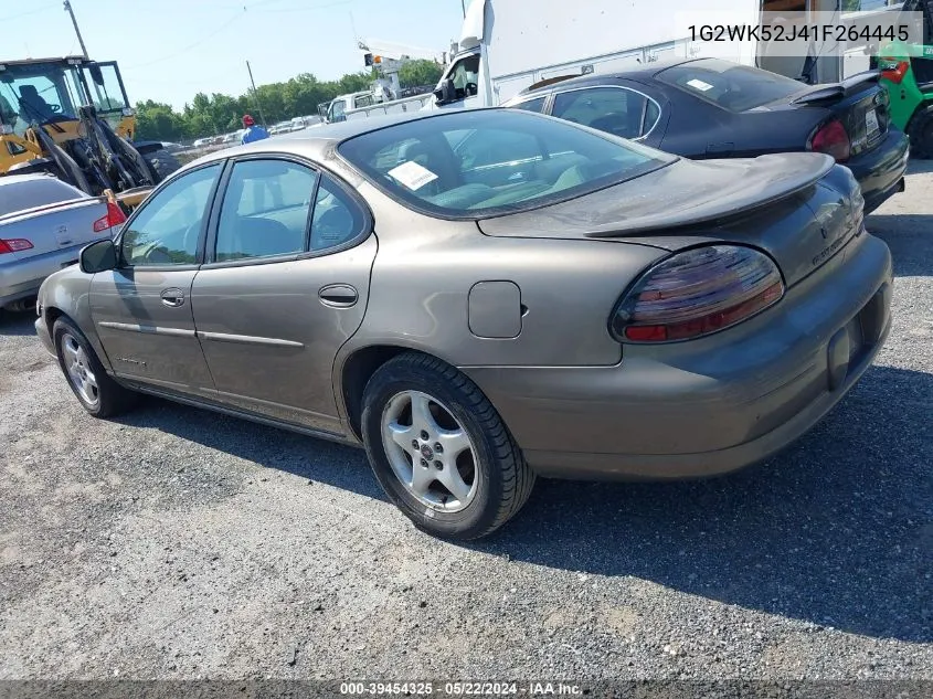
[[[22,310],[53,272],[126,221],[117,204],[44,173],[0,177],[0,308]]]

